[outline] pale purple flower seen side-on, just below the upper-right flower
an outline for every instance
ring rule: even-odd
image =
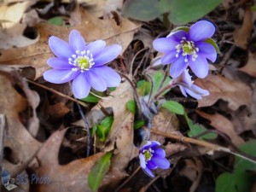
[[[175,84],[178,84],[183,96],[194,97],[195,99],[201,99],[201,96],[209,96],[208,90],[203,90],[199,86],[193,84],[191,76],[189,75],[189,70],[184,70],[183,73],[177,78],[174,79]]]

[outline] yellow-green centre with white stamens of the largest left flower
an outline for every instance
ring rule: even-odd
[[[84,71],[90,70],[90,68],[95,64],[93,62],[93,56],[90,54],[90,50],[77,50],[75,55],[72,55],[72,57],[68,58],[68,63],[74,66],[72,68],[73,71],[80,70],[82,73],[84,73]]]

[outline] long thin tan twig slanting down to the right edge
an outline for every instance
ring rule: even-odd
[[[207,143],[205,141],[197,140],[197,139],[194,139],[194,138],[181,137],[181,136],[177,136],[177,135],[170,134],[170,133],[156,131],[154,129],[152,129],[151,132],[154,133],[154,134],[160,135],[160,136],[164,136],[164,137],[180,140],[182,142],[200,145],[200,146],[205,147],[205,148],[211,148],[212,150],[215,150],[215,151],[222,151],[222,152],[225,152],[225,153],[228,153],[228,154],[234,154],[234,155],[236,155],[238,157],[241,157],[244,160],[249,160],[249,161],[251,161],[251,162],[256,164],[255,160],[249,159],[249,158],[247,158],[246,156],[244,156],[242,154],[237,154],[236,152],[231,151],[230,148],[224,148],[224,147],[218,146],[216,144]]]

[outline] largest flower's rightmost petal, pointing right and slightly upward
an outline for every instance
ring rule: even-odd
[[[102,66],[110,61],[113,61],[122,51],[119,44],[108,46],[94,57],[95,67]]]

